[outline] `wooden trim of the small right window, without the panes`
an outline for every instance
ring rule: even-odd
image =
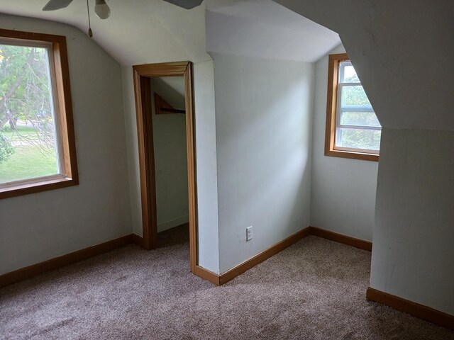
[[[378,154],[335,149],[339,63],[349,60],[350,58],[348,57],[347,53],[329,55],[328,95],[327,95],[328,100],[326,103],[325,156],[362,159],[365,161],[378,162],[379,159]]]

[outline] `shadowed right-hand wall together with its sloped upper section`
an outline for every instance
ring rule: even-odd
[[[339,33],[384,128],[372,288],[454,314],[454,2],[275,1]]]

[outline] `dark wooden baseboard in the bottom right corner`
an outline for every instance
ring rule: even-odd
[[[367,300],[380,302],[383,305],[394,308],[395,310],[406,312],[414,317],[419,317],[420,319],[432,322],[433,324],[438,324],[439,326],[454,330],[453,315],[440,312],[439,310],[434,310],[431,307],[419,305],[419,303],[411,302],[409,300],[402,299],[402,297],[384,293],[370,287],[367,288],[366,298]]]

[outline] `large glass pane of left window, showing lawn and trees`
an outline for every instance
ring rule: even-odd
[[[48,49],[0,45],[0,184],[60,173]]]

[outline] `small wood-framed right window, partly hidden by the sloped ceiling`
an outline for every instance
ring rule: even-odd
[[[330,55],[325,155],[378,161],[381,132],[348,55]]]

